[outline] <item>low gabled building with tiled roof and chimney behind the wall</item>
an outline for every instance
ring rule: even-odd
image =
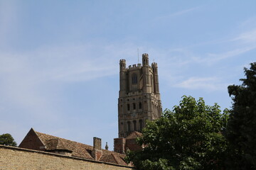
[[[94,137],[93,146],[90,146],[80,142],[55,137],[53,135],[36,132],[31,128],[18,147],[61,154],[68,157],[105,162],[108,164],[117,164],[119,166],[129,166],[129,164],[124,162],[125,154],[112,152],[107,150],[107,148],[102,149],[101,139],[98,137]]]

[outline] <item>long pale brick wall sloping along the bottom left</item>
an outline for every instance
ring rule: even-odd
[[[68,157],[18,147],[0,145],[0,169],[88,169],[88,170],[132,170],[90,159]]]

